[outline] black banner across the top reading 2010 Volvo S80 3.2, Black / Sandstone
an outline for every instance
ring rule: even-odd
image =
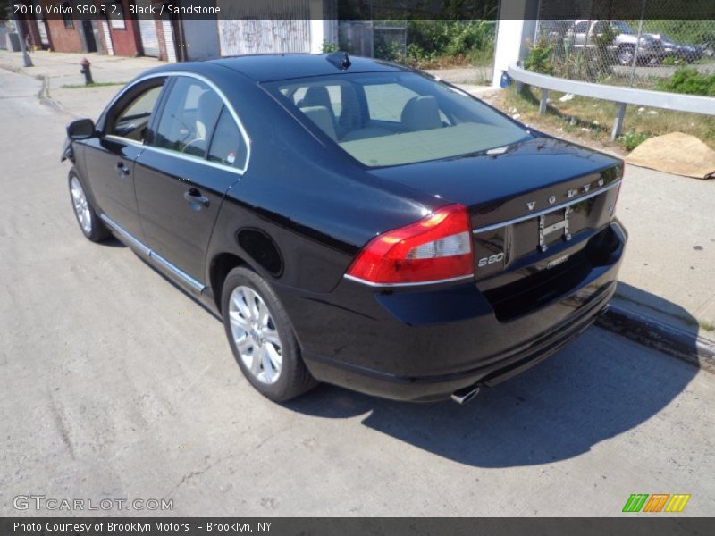
[[[715,0],[11,0],[6,6],[10,17],[64,21],[102,18],[715,20]],[[0,11],[0,17],[2,14]]]

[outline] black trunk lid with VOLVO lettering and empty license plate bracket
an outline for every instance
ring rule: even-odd
[[[571,283],[565,274],[577,277],[598,257],[593,248],[608,247],[594,237],[613,218],[622,169],[608,155],[534,138],[374,173],[444,204],[467,206],[477,286],[506,320],[527,312],[529,304],[543,305],[552,292],[566,291]],[[521,307],[515,307],[515,297]]]

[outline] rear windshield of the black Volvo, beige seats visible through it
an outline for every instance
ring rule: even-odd
[[[489,106],[415,72],[282,80],[266,88],[371,167],[470,155],[530,138]]]

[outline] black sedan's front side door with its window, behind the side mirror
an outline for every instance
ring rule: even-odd
[[[128,88],[105,113],[101,134],[85,142],[87,180],[99,211],[137,239],[142,232],[134,196],[134,162],[164,81],[156,78]]]

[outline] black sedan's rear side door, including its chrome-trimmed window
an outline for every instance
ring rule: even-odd
[[[147,246],[197,287],[223,197],[245,169],[248,138],[213,84],[173,78],[153,141],[135,164],[137,203]]]

